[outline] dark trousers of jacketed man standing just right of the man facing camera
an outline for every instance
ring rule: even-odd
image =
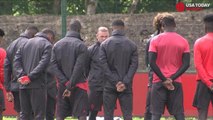
[[[104,120],[113,120],[116,100],[119,100],[124,120],[132,120],[132,92],[104,90]]]

